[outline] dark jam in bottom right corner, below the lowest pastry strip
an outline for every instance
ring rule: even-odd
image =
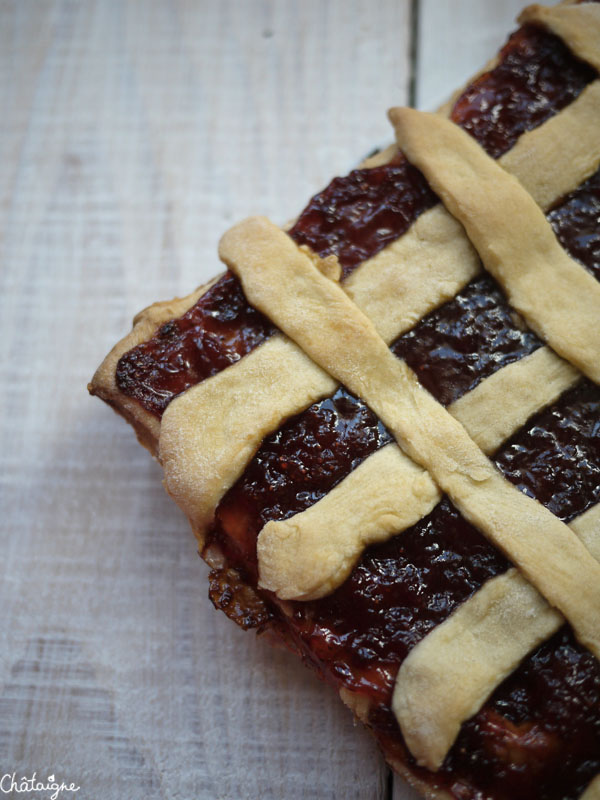
[[[599,708],[600,662],[565,627],[463,726],[440,778],[458,798],[576,800],[600,772]]]

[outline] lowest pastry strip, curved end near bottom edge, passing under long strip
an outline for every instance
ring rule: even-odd
[[[600,561],[600,504],[569,527]],[[513,568],[487,581],[427,634],[402,663],[392,699],[417,762],[438,769],[462,723],[563,623]]]

